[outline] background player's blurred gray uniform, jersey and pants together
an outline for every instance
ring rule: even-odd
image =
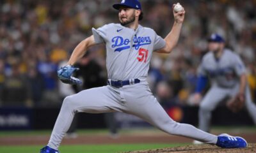
[[[199,128],[209,131],[211,112],[225,98],[236,96],[239,91],[240,76],[246,73],[243,61],[236,53],[225,49],[220,59],[215,59],[212,52],[204,55],[198,75],[208,75],[212,85],[200,103],[199,108]],[[246,85],[245,107],[256,124],[256,106],[252,102],[250,89]]]

